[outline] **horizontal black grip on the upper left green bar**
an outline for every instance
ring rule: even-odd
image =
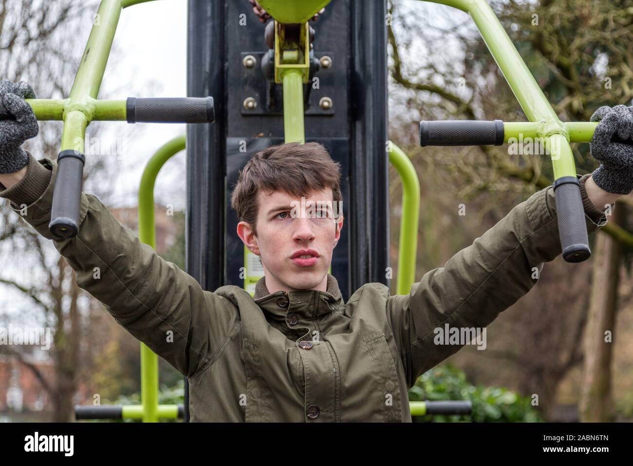
[[[213,97],[128,97],[128,123],[213,123]]]

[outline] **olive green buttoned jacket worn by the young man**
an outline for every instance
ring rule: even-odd
[[[53,240],[57,164],[29,157],[27,176],[0,196]],[[595,231],[606,219],[586,194],[584,202]],[[534,286],[535,267],[561,253],[551,187],[408,295],[367,283],[344,302],[332,275],[327,292],[269,294],[264,278],[254,298],[236,286],[203,290],[85,193],[78,235],[54,245],[81,288],[189,378],[192,421],[247,422],[410,422],[408,389],[461,347],[435,344],[434,329],[486,327]]]

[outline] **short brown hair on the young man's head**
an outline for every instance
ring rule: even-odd
[[[248,222],[257,235],[258,192],[284,191],[308,197],[313,191],[332,189],[332,200],[342,201],[341,164],[334,162],[319,143],[286,143],[256,153],[240,171],[231,193],[231,206],[239,221]]]

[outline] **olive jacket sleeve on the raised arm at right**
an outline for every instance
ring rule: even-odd
[[[586,178],[580,183],[587,231],[592,233],[606,223],[606,217],[587,202]],[[460,334],[463,328],[481,332],[536,284],[543,262],[559,254],[556,202],[549,186],[517,205],[444,267],[426,273],[410,294],[390,296],[387,320],[409,386],[463,346],[436,344],[441,342],[436,336],[446,333],[447,325]]]

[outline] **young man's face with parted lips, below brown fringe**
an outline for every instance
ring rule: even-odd
[[[337,213],[341,215],[334,219]],[[325,291],[342,226],[342,209],[332,201],[331,188],[315,191],[303,202],[284,191],[260,191],[257,236],[243,221],[237,225],[237,234],[260,256],[269,292]]]

